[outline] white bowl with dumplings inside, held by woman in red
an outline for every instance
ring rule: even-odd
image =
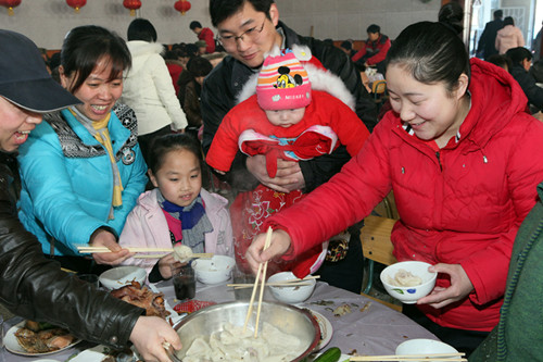
[[[429,272],[431,264],[405,261],[387,266],[381,272],[381,283],[387,292],[405,304],[414,304],[435,286],[438,273]]]

